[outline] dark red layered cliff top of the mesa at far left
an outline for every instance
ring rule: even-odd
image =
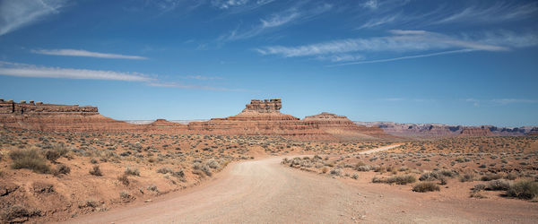
[[[32,115],[32,116],[54,116],[54,115],[99,115],[96,107],[78,105],[57,105],[44,104],[42,102],[34,102],[21,100],[19,103],[13,100],[4,101],[0,99],[0,115]]]

